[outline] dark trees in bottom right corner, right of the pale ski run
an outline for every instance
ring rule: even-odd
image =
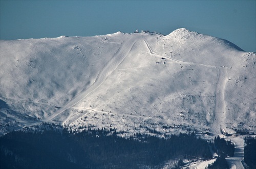
[[[256,168],[256,138],[245,138],[244,162],[250,168]]]

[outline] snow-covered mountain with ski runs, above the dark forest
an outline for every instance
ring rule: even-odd
[[[1,40],[1,134],[42,122],[255,132],[255,56],[186,29]]]

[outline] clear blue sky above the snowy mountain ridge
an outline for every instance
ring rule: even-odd
[[[1,39],[190,31],[256,51],[254,1],[2,1]]]

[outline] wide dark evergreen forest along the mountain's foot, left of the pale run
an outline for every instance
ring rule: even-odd
[[[1,168],[139,168],[170,159],[210,159],[213,143],[195,133],[158,138],[116,130],[15,131],[0,137]]]

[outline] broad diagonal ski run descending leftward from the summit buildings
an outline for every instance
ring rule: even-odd
[[[60,115],[62,112],[66,111],[67,109],[71,108],[72,106],[79,103],[81,100],[86,98],[90,93],[92,93],[94,90],[99,88],[104,80],[121,64],[121,62],[126,58],[127,54],[132,50],[134,44],[136,42],[136,38],[130,37],[127,41],[124,41],[124,43],[119,47],[118,51],[114,54],[112,59],[108,62],[108,64],[105,65],[105,67],[102,69],[102,71],[98,74],[96,77],[96,80],[94,83],[86,90],[78,94],[74,97],[73,100],[68,102],[66,105],[61,107],[59,110],[54,112],[53,115],[47,117],[43,121],[49,122],[52,119],[54,119],[56,116]],[[63,122],[64,123],[64,122]]]

